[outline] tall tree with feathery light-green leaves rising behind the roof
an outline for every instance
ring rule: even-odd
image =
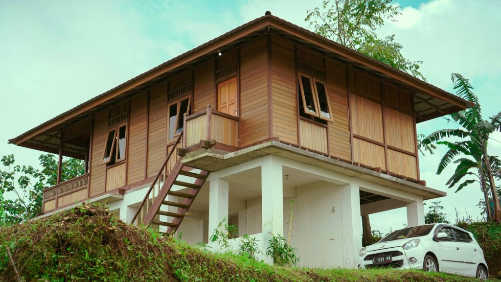
[[[406,59],[394,35],[379,38],[376,34],[385,20],[396,21],[399,8],[392,0],[327,0],[308,11],[305,21],[323,37],[425,80],[419,72],[422,61]]]

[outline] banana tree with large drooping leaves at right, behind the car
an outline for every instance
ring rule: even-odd
[[[440,174],[451,162],[457,164],[454,174],[447,182],[449,188],[458,184],[467,175],[476,175],[477,179],[467,179],[459,184],[456,192],[471,183],[479,182],[488,206],[489,187],[492,198],[499,199],[494,176],[499,173],[499,167],[501,167],[499,164],[501,163],[495,156],[487,154],[487,145],[490,133],[496,130],[501,131],[501,111],[491,116],[490,120],[484,120],[481,114],[480,103],[476,95],[472,92],[473,87],[469,81],[457,73],[452,73],[451,80],[457,95],[471,102],[473,106],[450,114],[451,118],[461,128],[437,130],[423,138],[421,143],[425,145],[436,143],[447,146],[449,150],[442,157],[438,165],[437,174]],[[444,140],[450,137],[459,138],[460,141]],[[469,158],[456,159],[462,155]],[[471,170],[474,172],[471,172]],[[491,217],[488,215],[489,212],[489,209],[487,209],[489,219],[493,219],[498,223],[501,222],[499,201],[494,201],[494,214]]]

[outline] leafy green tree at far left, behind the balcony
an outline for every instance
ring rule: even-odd
[[[42,191],[57,183],[58,163],[52,154],[40,155],[42,170],[32,166],[15,165],[14,155],[4,156],[0,162],[0,219],[2,224],[18,224],[42,212]],[[84,162],[65,158],[61,168],[61,181],[84,174]],[[12,192],[15,199],[6,199]]]

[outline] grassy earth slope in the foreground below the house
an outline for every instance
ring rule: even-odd
[[[15,281],[6,246],[28,281],[472,281],[422,271],[277,267],[205,253],[99,206],[0,228],[0,280]]]

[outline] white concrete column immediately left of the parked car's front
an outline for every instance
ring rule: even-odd
[[[341,230],[345,268],[356,268],[362,248],[362,219],[360,215],[360,188],[348,184],[341,188]]]

